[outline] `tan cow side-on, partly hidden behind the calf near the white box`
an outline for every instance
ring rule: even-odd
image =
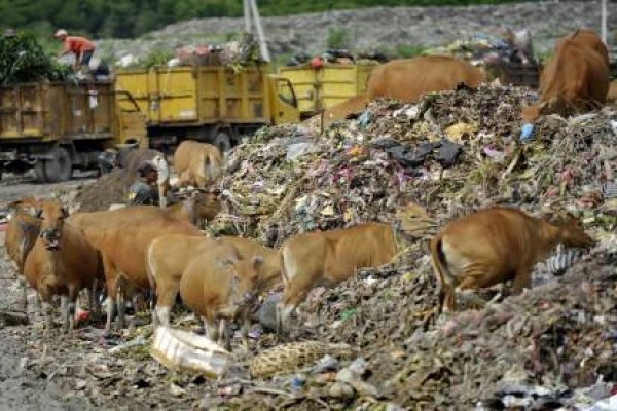
[[[275,250],[240,237],[201,238],[182,234],[163,235],[152,240],[146,259],[151,287],[156,290],[154,324],[168,324],[176,295],[180,290],[182,274],[193,258],[207,253],[215,246],[230,245],[239,258],[252,260],[258,277],[252,293],[258,295],[271,288],[281,278],[278,254]]]

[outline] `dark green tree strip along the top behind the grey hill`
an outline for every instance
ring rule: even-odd
[[[264,16],[368,6],[499,4],[513,0],[259,0]],[[95,38],[133,38],[189,18],[238,17],[241,0],[0,0],[0,28],[29,28],[51,36],[54,28]]]

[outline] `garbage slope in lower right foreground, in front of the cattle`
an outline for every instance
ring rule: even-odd
[[[365,269],[310,299],[288,336],[321,346],[347,344],[354,356],[333,350],[275,376],[226,378],[207,394],[208,404],[584,409],[617,393],[617,237],[604,244],[558,281],[441,321],[436,283],[420,250]],[[278,347],[262,336],[253,358]]]

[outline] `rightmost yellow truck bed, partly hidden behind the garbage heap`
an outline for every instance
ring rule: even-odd
[[[351,97],[365,94],[368,77],[379,63],[341,65],[326,63],[282,66],[278,75],[289,79],[296,91],[300,118],[305,120]]]

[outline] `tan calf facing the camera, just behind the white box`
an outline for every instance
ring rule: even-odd
[[[247,343],[249,309],[259,266],[259,260],[243,260],[233,245],[221,243],[192,259],[182,274],[182,301],[204,320],[204,329],[212,340],[225,336],[228,350],[228,321],[243,320],[242,336]]]

